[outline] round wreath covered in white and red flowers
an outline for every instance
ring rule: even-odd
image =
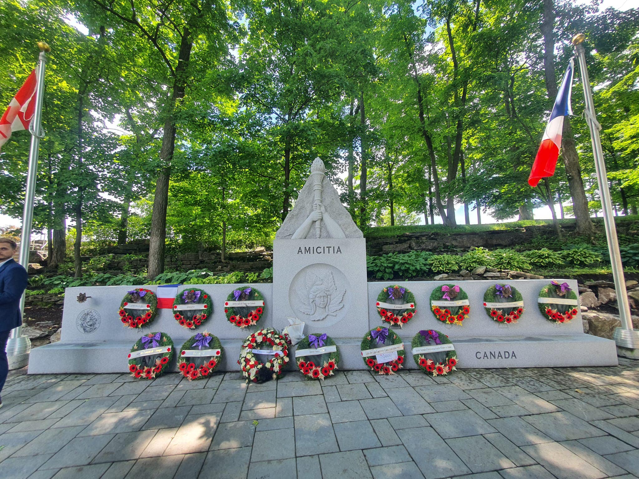
[[[271,346],[273,354],[268,354],[266,361],[258,359],[253,349],[261,349],[261,346]],[[277,353],[277,354],[275,354]],[[264,328],[251,333],[242,343],[238,364],[242,369],[242,376],[246,382],[262,383],[268,379],[279,379],[282,368],[288,363],[288,344],[286,339],[273,328]]]

